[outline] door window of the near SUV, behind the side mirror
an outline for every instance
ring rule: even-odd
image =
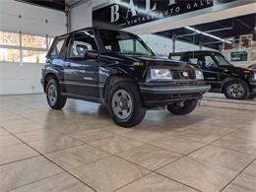
[[[69,58],[85,58],[85,53],[89,50],[97,50],[96,38],[92,31],[81,31],[74,34],[69,45]]]

